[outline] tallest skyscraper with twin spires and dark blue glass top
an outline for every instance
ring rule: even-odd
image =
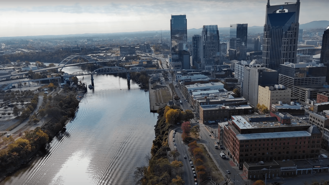
[[[300,2],[266,5],[263,40],[263,63],[267,68],[278,70],[285,62],[296,62],[299,32]]]

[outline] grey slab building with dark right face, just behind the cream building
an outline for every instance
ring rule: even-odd
[[[254,65],[244,67],[242,96],[253,106],[258,103],[258,86],[277,84],[278,71]]]

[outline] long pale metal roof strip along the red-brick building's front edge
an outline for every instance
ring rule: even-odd
[[[311,134],[307,131],[293,132],[273,132],[273,133],[257,133],[257,134],[239,134],[239,140],[248,139],[271,139],[271,138],[293,138],[293,137],[310,137]]]

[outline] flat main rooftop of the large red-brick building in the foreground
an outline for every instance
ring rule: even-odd
[[[232,121],[240,129],[310,125],[307,122],[305,122],[304,120],[302,120],[298,117],[291,116],[290,114],[287,114],[287,113],[280,113],[280,114],[283,114],[283,116],[286,116],[284,119],[290,118],[291,124],[282,124],[276,117],[271,117],[269,114],[232,116]]]

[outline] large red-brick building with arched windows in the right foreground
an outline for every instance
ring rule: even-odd
[[[233,163],[315,158],[320,154],[321,132],[286,113],[232,116],[218,123],[220,142]]]

